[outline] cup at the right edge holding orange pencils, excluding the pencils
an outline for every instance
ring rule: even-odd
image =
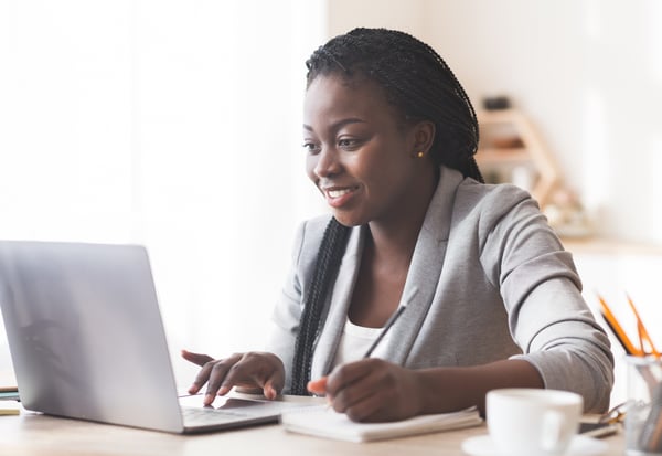
[[[662,455],[662,359],[626,357],[626,454]]]

